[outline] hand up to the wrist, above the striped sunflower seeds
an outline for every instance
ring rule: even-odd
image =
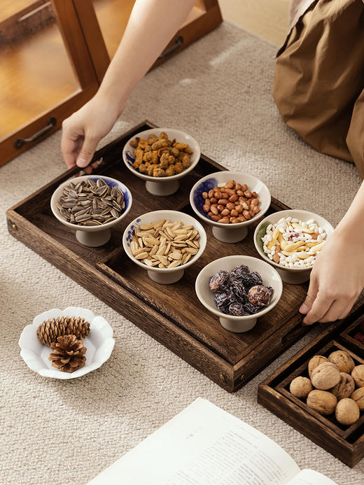
[[[61,150],[66,166],[77,165],[90,174],[90,164],[99,141],[109,133],[123,112],[116,103],[97,94],[62,123]]]

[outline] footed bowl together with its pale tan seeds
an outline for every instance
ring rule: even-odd
[[[179,211],[153,211],[134,219],[123,235],[129,258],[157,283],[170,284],[200,258],[207,236],[195,218]]]

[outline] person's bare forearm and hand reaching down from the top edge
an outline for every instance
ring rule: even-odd
[[[62,123],[67,167],[86,167],[99,141],[123,113],[127,97],[176,34],[195,0],[137,0],[102,84],[90,101]],[[90,171],[90,169],[88,169]]]

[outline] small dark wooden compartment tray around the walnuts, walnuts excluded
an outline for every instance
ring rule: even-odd
[[[290,381],[299,375],[309,377],[307,364],[315,355],[327,357],[333,351],[342,350],[349,353],[356,365],[363,364],[363,344],[347,337],[348,333],[351,334],[364,321],[363,315],[356,319],[362,312],[363,310],[359,309],[346,322],[329,325],[258,388],[259,404],[349,467],[356,465],[364,456],[364,412],[360,412],[360,418],[356,423],[343,426],[337,423],[335,414],[322,416],[308,407],[304,400],[295,398],[289,391],[289,385]],[[352,323],[346,328],[350,322]]]

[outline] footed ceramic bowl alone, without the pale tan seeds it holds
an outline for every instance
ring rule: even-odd
[[[184,265],[180,265],[174,268],[160,268],[160,267],[150,267],[144,264],[144,262],[141,262],[140,260],[137,260],[134,258],[132,254],[132,237],[134,235],[135,230],[139,230],[139,227],[144,224],[151,224],[157,220],[171,220],[172,222],[177,222],[181,221],[183,225],[193,225],[195,229],[198,230],[200,233],[200,239],[198,239],[198,242],[200,244],[200,248],[197,251],[195,255],[193,255],[188,262],[186,262]],[[170,284],[170,283],[176,283],[176,281],[179,281],[179,279],[182,278],[184,270],[189,267],[190,265],[193,265],[194,262],[200,258],[202,253],[204,252],[204,249],[206,247],[207,243],[207,236],[204,228],[202,225],[193,218],[192,216],[189,216],[186,213],[179,212],[179,211],[153,211],[153,212],[148,212],[143,214],[143,216],[139,216],[137,219],[134,219],[130,225],[127,226],[125,229],[125,232],[123,234],[123,246],[125,249],[125,253],[129,256],[129,258],[138,266],[140,266],[143,269],[146,269],[149,278],[153,279],[156,283],[161,283],[161,284]]]

